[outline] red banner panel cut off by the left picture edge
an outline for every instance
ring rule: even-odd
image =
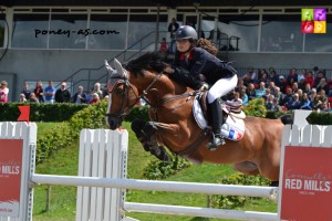
[[[0,217],[19,217],[22,139],[0,139]]]

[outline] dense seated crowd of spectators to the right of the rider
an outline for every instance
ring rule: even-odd
[[[332,80],[315,66],[313,70],[291,69],[288,75],[279,75],[273,67],[257,72],[248,67],[239,77],[235,90],[243,105],[250,99],[263,98],[269,110],[311,109],[330,112],[332,103]]]

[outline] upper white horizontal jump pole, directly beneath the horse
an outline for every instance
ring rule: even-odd
[[[172,192],[190,192],[204,194],[228,194],[245,197],[261,197],[276,200],[277,187],[259,186],[231,186],[216,183],[178,182],[178,181],[156,181],[139,179],[117,179],[98,177],[75,177],[34,173],[31,181],[39,185],[64,185],[103,187],[136,190],[156,190]]]

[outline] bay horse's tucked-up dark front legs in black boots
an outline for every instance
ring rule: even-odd
[[[159,160],[169,161],[170,157],[163,146],[159,146],[155,133],[157,127],[153,122],[144,122],[142,119],[135,119],[132,123],[132,129],[135,133],[137,139],[142,143],[144,149],[156,156]]]

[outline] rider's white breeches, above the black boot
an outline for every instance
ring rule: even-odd
[[[208,92],[208,103],[211,104],[216,98],[226,95],[238,84],[238,76],[235,74],[229,78],[218,80]]]

